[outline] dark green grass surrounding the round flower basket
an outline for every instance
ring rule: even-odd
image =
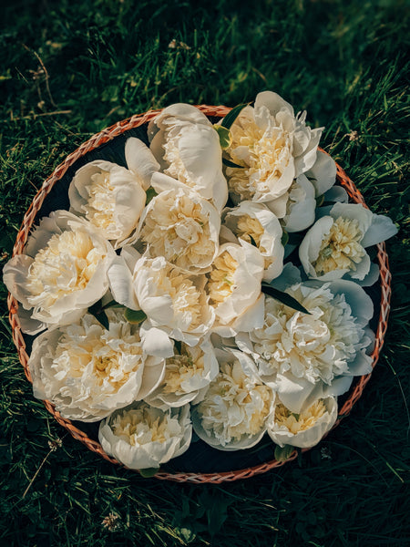
[[[33,398],[11,343],[2,285],[1,544],[408,544],[406,3],[237,5],[3,5],[2,263],[42,181],[96,131],[176,101],[233,106],[273,89],[306,108],[313,126],[326,127],[325,150],[372,210],[400,227],[388,243],[393,302],[381,360],[351,416],[299,462],[220,486],[142,479],[88,452]],[[50,445],[56,439],[61,447]]]

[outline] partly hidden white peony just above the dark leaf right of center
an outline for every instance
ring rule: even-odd
[[[223,224],[237,238],[255,245],[259,250],[264,258],[264,281],[272,281],[282,273],[282,227],[263,203],[241,201],[238,207],[225,210]]]

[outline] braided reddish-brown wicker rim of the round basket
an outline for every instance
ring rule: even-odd
[[[208,116],[209,118],[214,118],[214,119],[223,118],[231,110],[231,108],[227,108],[223,106],[212,107],[207,105],[201,105],[198,108],[206,116]],[[52,191],[56,182],[60,181],[64,177],[64,175],[67,173],[67,170],[70,170],[71,166],[73,166],[74,163],[76,163],[77,165],[73,169],[77,169],[79,167],[79,164],[86,162],[84,160],[84,156],[86,154],[89,154],[93,150],[97,150],[100,147],[106,145],[107,143],[112,142],[113,139],[116,139],[121,136],[125,138],[126,133],[128,133],[128,136],[132,134],[136,134],[135,129],[138,129],[138,128],[140,129],[146,126],[149,120],[153,119],[159,113],[159,111],[160,110],[151,110],[145,114],[132,116],[129,119],[119,121],[118,123],[111,126],[110,128],[104,129],[100,133],[97,133],[97,135],[94,135],[91,139],[87,140],[87,142],[83,143],[77,150],[75,150],[73,153],[67,156],[67,159],[56,168],[56,170],[48,179],[46,179],[46,181],[43,183],[41,190],[37,192],[36,197],[32,201],[24,217],[21,229],[17,234],[15,247],[13,250],[13,255],[21,254],[24,252],[24,247],[26,245],[27,237],[30,230],[33,227],[34,222],[37,220],[38,217],[41,217],[44,214],[48,213],[45,211],[45,207],[44,207],[46,196],[50,193],[50,191]],[[356,189],[356,187],[354,186],[354,183],[347,177],[346,173],[343,171],[343,169],[339,165],[337,165],[337,181],[348,192],[351,198],[351,201],[354,201],[355,203],[362,203],[364,207],[366,207],[362,194]],[[58,192],[58,186],[56,187],[56,192]],[[377,360],[380,355],[380,351],[384,344],[384,334],[387,328],[387,319],[388,319],[389,310],[390,310],[389,303],[390,303],[390,296],[391,296],[391,287],[390,287],[391,274],[389,271],[388,258],[387,258],[387,254],[385,253],[384,243],[379,243],[377,245],[377,260],[380,267],[381,291],[380,291],[380,315],[379,315],[379,320],[378,320],[378,324],[376,328],[374,351],[372,354],[373,366],[375,366],[375,364],[377,363]],[[20,362],[24,366],[26,377],[31,382],[32,380],[31,380],[30,372],[27,366],[28,355],[26,352],[26,341],[24,336],[22,335],[21,325],[20,325],[18,316],[16,315],[18,304],[15,298],[11,296],[11,294],[9,294],[8,296],[7,304],[8,304],[8,308],[10,312],[9,319],[10,319],[10,324],[13,330],[13,340],[15,342],[15,346],[18,351]],[[333,427],[336,427],[338,423],[341,421],[341,419],[345,418],[350,413],[351,409],[354,407],[354,404],[356,403],[358,398],[361,397],[364,387],[369,381],[370,376],[371,375],[355,378],[354,384],[351,387],[348,393],[348,396],[344,401],[343,407],[340,408],[339,410],[338,420],[336,421]],[[56,421],[59,424],[61,424],[64,428],[66,428],[67,431],[69,431],[69,433],[75,439],[81,441],[83,444],[87,446],[88,449],[92,450],[93,452],[96,452],[102,458],[107,459],[111,463],[119,464],[119,462],[116,459],[113,459],[109,457],[108,454],[106,454],[106,452],[102,449],[101,445],[97,442],[97,440],[90,439],[87,433],[82,431],[80,428],[77,428],[76,425],[71,422],[71,420],[63,418],[60,415],[60,413],[56,411],[56,409],[54,408],[54,405],[52,405],[49,401],[44,401],[44,403],[46,405],[47,410],[54,416],[54,418],[56,418]],[[303,449],[302,451],[305,451],[305,450],[307,449]],[[295,459],[296,457],[297,457],[297,451],[293,450],[291,457],[287,459],[286,461],[290,461],[292,459]],[[179,482],[220,483],[223,481],[248,479],[254,475],[264,473],[274,468],[278,468],[282,466],[283,463],[285,462],[277,461],[276,459],[270,459],[269,461],[260,463],[253,467],[247,467],[246,469],[224,471],[224,472],[215,471],[212,473],[159,471],[155,475],[155,477],[161,480],[175,480]]]

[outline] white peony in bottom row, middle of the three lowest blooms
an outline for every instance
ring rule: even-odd
[[[272,389],[261,382],[249,356],[228,348],[215,353],[220,373],[192,408],[194,431],[215,449],[249,449],[266,431]]]

